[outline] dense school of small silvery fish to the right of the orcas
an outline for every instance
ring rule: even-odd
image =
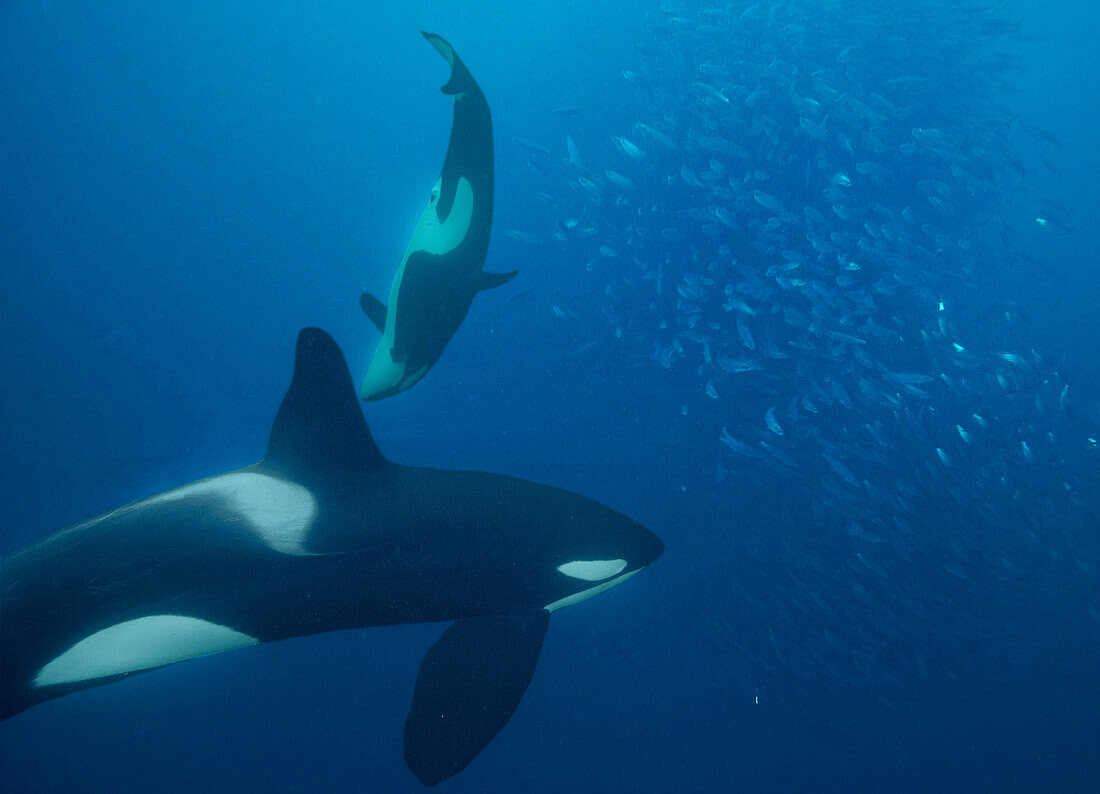
[[[730,539],[719,586],[757,627],[733,649],[862,685],[1022,674],[1040,603],[1094,631],[1096,417],[1018,305],[975,299],[1038,266],[1014,136],[1058,145],[999,99],[1019,29],[970,0],[734,0],[650,31],[632,125],[594,140],[570,107],[565,141],[515,140],[551,211],[508,236],[583,271],[549,307],[606,329],[578,355],[668,373],[710,493],[783,503]]]

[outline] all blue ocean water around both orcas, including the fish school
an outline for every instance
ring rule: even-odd
[[[364,371],[359,295],[450,130],[425,29],[488,97],[486,269],[520,274],[372,432],[667,547],[553,616],[442,786],[1093,791],[1098,25],[1080,0],[6,3],[0,552],[258,459],[302,327]],[[52,701],[0,727],[0,786],[418,790],[402,729],[441,629]]]

